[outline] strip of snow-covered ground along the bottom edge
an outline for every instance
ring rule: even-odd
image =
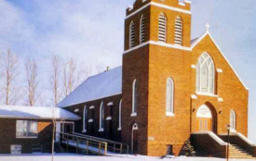
[[[206,157],[176,157],[174,159],[160,159],[159,157],[150,157],[143,155],[123,155],[123,156],[86,156],[86,155],[55,155],[54,161],[159,161],[159,160],[174,160],[174,161],[225,161],[220,158]],[[51,161],[51,155],[0,155],[0,161]],[[252,160],[236,160],[230,161],[252,161]]]

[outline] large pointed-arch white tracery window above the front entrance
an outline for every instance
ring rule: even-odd
[[[204,58],[203,56],[207,55],[208,57],[207,58]],[[203,57],[203,63],[201,64],[200,63],[200,58]],[[207,63],[206,61],[210,59],[210,62]],[[207,66],[208,66],[208,74],[210,73],[210,66],[212,65],[212,68],[213,68],[213,73],[212,73],[212,78],[209,77],[208,75],[208,92],[204,92],[203,89],[202,89],[202,68],[203,66],[205,65],[205,63],[207,63]],[[209,56],[209,54],[207,52],[203,53],[201,56],[199,56],[198,60],[197,60],[197,64],[196,64],[196,84],[195,84],[195,91],[197,94],[200,94],[200,95],[211,95],[211,96],[216,96],[215,95],[215,75],[216,75],[216,71],[215,71],[215,65],[214,65],[214,62],[213,62],[213,59],[211,56]],[[212,81],[212,92],[210,92],[210,81]]]

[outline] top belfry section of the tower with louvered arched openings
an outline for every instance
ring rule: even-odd
[[[144,42],[190,47],[190,7],[190,1],[136,0],[127,9],[125,51],[141,44],[141,17]]]

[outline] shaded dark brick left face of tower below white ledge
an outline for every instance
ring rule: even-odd
[[[131,126],[139,126],[139,154],[147,153],[147,128],[148,128],[148,46],[141,47],[123,56],[123,110],[122,110],[122,142],[131,142]],[[132,113],[132,84],[138,84],[138,112],[137,117]]]

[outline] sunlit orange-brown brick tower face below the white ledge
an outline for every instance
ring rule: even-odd
[[[179,155],[182,144],[190,136],[189,62],[189,52],[150,46],[148,137],[155,140],[148,141],[148,155],[166,155],[168,144]],[[166,116],[168,78],[174,81],[174,117]]]

